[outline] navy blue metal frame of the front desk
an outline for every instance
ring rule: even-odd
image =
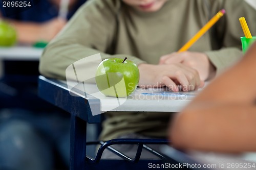
[[[43,76],[38,78],[38,95],[40,98],[50,102],[51,104],[68,111],[71,114],[71,137],[70,137],[70,169],[147,169],[148,163],[159,164],[163,163],[163,160],[139,160],[139,156],[135,161],[129,160],[92,160],[86,156],[86,130],[87,123],[100,123],[100,114],[93,116],[88,100],[86,98],[72,96],[69,93],[67,84],[58,80],[47,79]],[[167,140],[154,141],[152,139],[142,140],[146,144],[167,143]],[[104,145],[108,145],[113,141],[107,143],[101,143],[101,148]],[[115,142],[127,142],[127,141],[114,141]],[[137,142],[142,145],[141,141]],[[129,142],[128,142],[129,143]],[[138,153],[138,152],[137,152]],[[164,156],[164,155],[160,155]],[[97,156],[96,156],[97,158]],[[95,159],[96,159],[95,158]],[[164,157],[162,157],[164,159]],[[170,160],[168,159],[168,162]],[[173,161],[173,163],[177,163]]]

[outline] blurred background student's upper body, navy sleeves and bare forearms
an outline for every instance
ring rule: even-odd
[[[38,4],[32,4],[33,7],[26,11],[17,7],[8,8],[6,11],[3,5],[0,9],[2,17],[15,27],[18,41],[34,43],[41,40],[50,41],[86,0],[68,0],[66,2],[69,3],[66,16],[62,16],[60,12],[61,0],[38,1]]]

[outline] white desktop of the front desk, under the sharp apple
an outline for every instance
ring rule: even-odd
[[[62,81],[67,84],[66,81]],[[69,82],[70,83],[70,82]],[[71,95],[81,96],[93,106],[106,111],[178,112],[186,106],[199,91],[171,92],[164,89],[137,88],[127,98],[107,97],[99,92],[96,84],[77,84],[69,87]],[[78,89],[78,90],[77,90]],[[86,93],[84,93],[84,91]],[[92,106],[91,106],[92,109]]]

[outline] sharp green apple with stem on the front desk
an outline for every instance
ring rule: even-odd
[[[126,97],[138,86],[140,79],[138,66],[120,58],[103,60],[96,70],[96,85],[106,96]]]

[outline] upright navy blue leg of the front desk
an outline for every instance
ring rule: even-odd
[[[71,114],[70,170],[85,169],[87,123]]]

